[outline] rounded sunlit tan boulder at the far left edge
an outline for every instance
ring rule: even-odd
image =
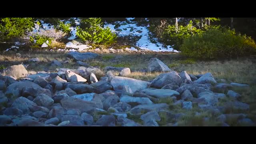
[[[2,72],[2,76],[13,76],[14,78],[25,77],[27,74],[28,71],[23,64],[9,66]]]

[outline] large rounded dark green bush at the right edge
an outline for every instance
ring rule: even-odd
[[[232,58],[256,53],[256,44],[252,38],[234,30],[210,28],[204,34],[186,38],[181,51],[192,58]]]

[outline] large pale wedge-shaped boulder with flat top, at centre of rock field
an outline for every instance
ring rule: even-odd
[[[128,86],[132,93],[134,93],[136,90],[148,88],[150,85],[149,82],[120,76],[115,76],[112,78],[110,84],[113,86],[114,90],[119,90],[120,87]]]

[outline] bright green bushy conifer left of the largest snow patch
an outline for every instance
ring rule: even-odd
[[[116,34],[110,28],[102,28],[101,18],[87,18],[80,22],[76,35],[84,42],[91,44],[112,44],[115,42]]]

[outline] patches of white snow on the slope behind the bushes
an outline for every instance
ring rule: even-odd
[[[116,32],[116,34],[120,37],[120,36],[140,36],[141,38],[136,42],[136,46],[138,46],[141,50],[151,50],[154,52],[178,52],[177,50],[174,50],[172,48],[172,46],[167,46],[167,48],[164,48],[163,44],[161,44],[160,42],[157,42],[156,44],[150,42],[148,35],[150,34],[148,27],[147,26],[137,26],[137,22],[132,22],[131,20],[133,20],[134,18],[126,18],[126,20],[129,21],[130,24],[126,23],[125,21],[123,22],[118,22],[120,25],[120,27],[118,28],[114,28],[115,25],[114,24],[105,24],[104,27],[109,27],[112,32]],[[145,18],[146,19],[146,18]],[[78,18],[74,18],[75,20],[75,24],[76,26],[80,25],[80,20]],[[147,20],[147,19],[146,19]],[[35,26],[33,28],[33,32],[39,32],[41,29],[45,29],[45,30],[49,30],[54,28],[54,26],[44,23],[44,21],[40,21],[42,26],[40,27],[38,24],[35,23]],[[65,24],[70,23],[70,20],[66,21]],[[76,36],[76,27],[70,27],[71,30],[71,36],[68,37],[68,40],[74,40],[77,38]],[[19,42],[15,43],[16,47],[20,45]],[[42,47],[48,47],[48,45],[46,43],[44,43],[42,45]],[[86,44],[74,44],[72,42],[68,42],[66,44],[66,48],[74,48],[71,49],[71,51],[76,51],[75,49],[78,49],[79,51],[90,48],[91,46],[88,46]],[[12,47],[14,48],[14,47]],[[10,50],[11,48],[9,48],[8,50]],[[7,50],[7,51],[8,51]],[[111,50],[111,49],[110,49]],[[134,47],[127,47],[126,50],[132,50],[132,51],[138,51],[136,48]]]

